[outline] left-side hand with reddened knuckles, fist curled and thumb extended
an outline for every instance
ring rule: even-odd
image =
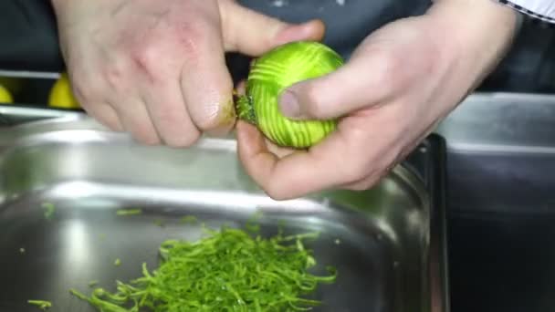
[[[184,147],[235,124],[225,52],[257,57],[320,40],[232,0],[52,0],[62,54],[83,109],[143,143]]]

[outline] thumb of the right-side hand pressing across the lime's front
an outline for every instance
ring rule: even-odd
[[[328,120],[386,102],[399,93],[402,79],[395,53],[367,48],[328,75],[290,86],[279,98],[282,113],[296,120]]]

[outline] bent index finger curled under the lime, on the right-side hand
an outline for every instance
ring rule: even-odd
[[[298,151],[281,160],[267,150],[262,134],[246,122],[237,122],[237,142],[239,158],[247,174],[277,200],[351,182],[362,173],[352,165],[345,166],[343,153],[348,149],[345,141],[340,140],[339,132],[309,151]],[[351,172],[344,172],[343,168]]]

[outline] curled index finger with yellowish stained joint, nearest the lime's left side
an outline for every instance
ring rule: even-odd
[[[194,49],[183,55],[182,94],[199,130],[224,135],[235,125],[233,81],[225,64],[219,26],[204,23],[204,36],[195,37]]]

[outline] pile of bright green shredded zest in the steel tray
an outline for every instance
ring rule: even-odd
[[[117,281],[115,293],[101,287],[89,297],[70,292],[103,312],[281,312],[319,306],[303,296],[336,279],[330,266],[328,276],[308,272],[316,261],[303,242],[316,233],[264,238],[228,227],[204,230],[208,236],[196,242],[163,242],[161,265],[151,273],[143,264],[143,276]]]

